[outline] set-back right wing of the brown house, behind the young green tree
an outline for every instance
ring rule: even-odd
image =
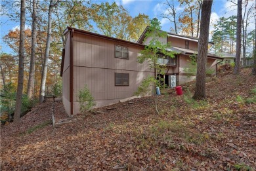
[[[147,43],[150,42],[150,37],[145,39],[147,30],[148,27],[144,30],[142,35],[140,35],[137,43],[147,45]],[[165,75],[163,75],[165,78],[165,83],[169,83],[169,81],[167,81],[169,75],[176,75],[177,85],[182,85],[183,83],[194,80],[196,75],[186,73],[185,68],[187,68],[188,64],[190,63],[190,56],[198,53],[198,38],[167,33],[167,37],[161,37],[160,41],[161,43],[170,43],[171,48],[169,48],[169,50],[177,52],[177,55],[175,56],[175,63],[167,65]],[[209,42],[209,44],[213,45],[214,43]],[[216,56],[215,54],[207,54],[207,69],[213,70],[212,75],[217,75],[217,63],[222,61],[223,58]]]

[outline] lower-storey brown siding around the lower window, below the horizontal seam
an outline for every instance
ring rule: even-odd
[[[115,86],[115,73],[129,73],[129,86]],[[78,91],[85,85],[88,86],[95,100],[131,97],[143,79],[154,73],[74,66],[74,75],[74,102],[77,102]]]

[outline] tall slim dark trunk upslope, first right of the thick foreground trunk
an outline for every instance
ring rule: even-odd
[[[236,24],[236,65],[234,67],[234,74],[240,74],[241,30],[242,30],[242,0],[238,0],[238,18],[237,18],[237,24]]]

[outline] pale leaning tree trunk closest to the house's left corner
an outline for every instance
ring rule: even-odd
[[[48,60],[49,60],[49,52],[50,52],[51,34],[52,34],[52,12],[53,12],[53,7],[56,5],[58,5],[58,0],[56,1],[56,3],[54,3],[54,0],[50,1],[49,14],[48,14],[47,41],[46,41],[46,47],[45,47],[45,61],[43,63],[43,73],[42,73],[42,79],[41,79],[39,102],[43,102],[44,96],[45,96],[45,83],[47,78],[47,68],[48,68]]]

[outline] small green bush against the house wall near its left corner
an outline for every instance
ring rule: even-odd
[[[89,111],[91,107],[95,105],[93,96],[91,95],[91,92],[87,87],[87,85],[85,85],[83,89],[79,90],[78,98],[79,98],[79,107],[80,107],[81,113],[85,113],[86,111]]]

